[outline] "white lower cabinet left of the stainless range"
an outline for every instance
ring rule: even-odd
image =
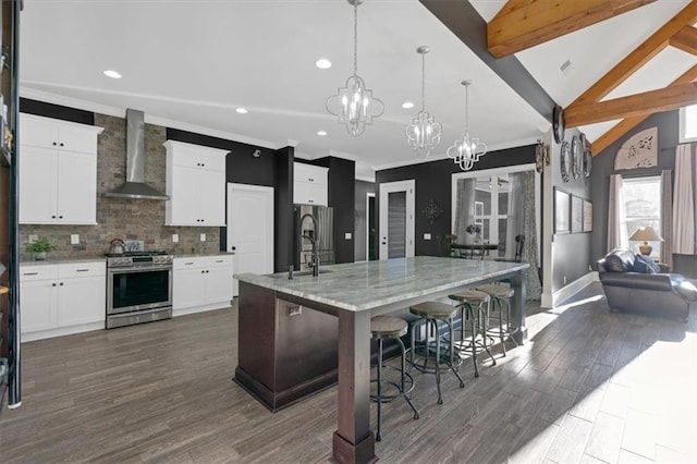
[[[105,328],[106,262],[21,265],[22,340]]]

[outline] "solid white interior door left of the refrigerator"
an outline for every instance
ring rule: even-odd
[[[228,252],[234,273],[273,272],[273,188],[228,184]],[[233,279],[237,296],[237,279]]]

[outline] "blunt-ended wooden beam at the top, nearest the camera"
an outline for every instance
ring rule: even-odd
[[[509,0],[487,25],[489,52],[503,58],[656,0]]]

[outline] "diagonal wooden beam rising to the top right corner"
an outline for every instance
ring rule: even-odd
[[[677,34],[686,25],[692,25],[695,22],[697,22],[697,0],[692,0],[660,29],[647,38],[613,69],[608,71],[608,73],[600,77],[600,80],[590,86],[588,90],[584,91],[580,97],[568,106],[568,110],[572,110],[577,106],[603,99],[628,76],[634,74],[636,70],[641,68],[651,58],[656,57],[661,50],[668,47],[671,37]]]

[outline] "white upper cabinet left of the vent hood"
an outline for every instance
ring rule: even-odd
[[[97,223],[97,136],[102,131],[20,114],[20,223]]]

